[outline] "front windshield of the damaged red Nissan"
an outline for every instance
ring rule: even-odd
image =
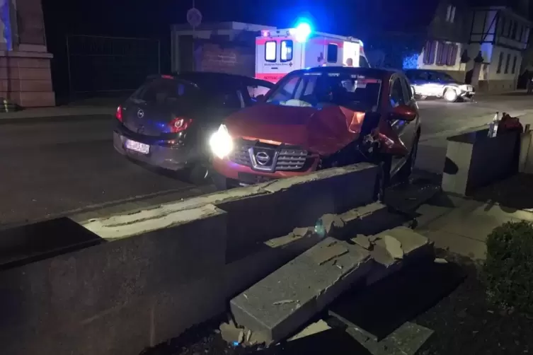
[[[380,78],[343,72],[299,72],[287,75],[270,91],[267,103],[282,106],[338,105],[356,111],[375,111]]]

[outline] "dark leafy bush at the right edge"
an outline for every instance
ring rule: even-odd
[[[533,313],[533,224],[507,222],[487,238],[483,279],[490,301]]]

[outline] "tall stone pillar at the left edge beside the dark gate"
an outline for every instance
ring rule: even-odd
[[[0,98],[22,107],[55,105],[40,0],[0,0]]]

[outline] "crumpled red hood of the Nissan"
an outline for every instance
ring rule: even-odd
[[[364,117],[363,112],[338,106],[262,104],[236,112],[225,124],[234,138],[301,146],[327,156],[357,139]]]

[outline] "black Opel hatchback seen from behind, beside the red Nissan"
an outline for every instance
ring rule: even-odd
[[[156,75],[120,105],[115,150],[135,161],[205,177],[208,137],[232,112],[256,103],[268,81],[246,76],[190,72]]]

